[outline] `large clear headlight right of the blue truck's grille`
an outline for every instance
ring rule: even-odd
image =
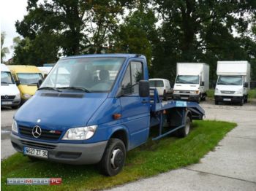
[[[92,125],[83,128],[69,128],[62,140],[86,140],[94,136],[97,125]]]

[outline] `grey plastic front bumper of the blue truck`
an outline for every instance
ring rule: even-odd
[[[11,133],[12,147],[18,152],[23,152],[23,147],[48,150],[48,159],[57,163],[72,165],[99,163],[105,151],[108,141],[101,141],[94,144],[69,144],[69,143],[46,143],[42,141],[31,141],[22,139]],[[42,160],[45,160],[42,158]]]

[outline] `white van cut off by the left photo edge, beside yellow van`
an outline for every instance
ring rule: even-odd
[[[10,69],[1,63],[1,106],[12,106],[18,109],[20,105],[20,91],[12,77]]]

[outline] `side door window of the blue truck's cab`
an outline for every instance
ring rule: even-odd
[[[140,62],[131,62],[124,74],[122,88],[124,94],[132,94],[139,92],[139,82],[143,79],[143,66]]]

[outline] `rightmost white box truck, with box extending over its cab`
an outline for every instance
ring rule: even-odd
[[[251,66],[247,61],[218,61],[215,104],[222,101],[238,103],[248,101]]]

